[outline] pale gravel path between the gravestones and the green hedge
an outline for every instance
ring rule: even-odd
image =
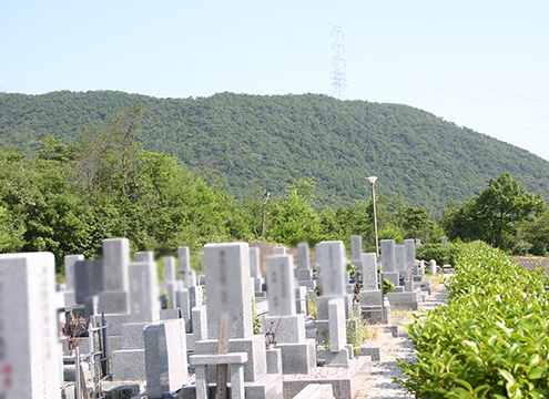
[[[446,289],[438,285],[435,291],[427,298],[426,303],[420,305],[420,311],[427,311],[433,307],[446,303]],[[403,378],[404,374],[398,367],[397,359],[405,362],[415,361],[414,344],[407,339],[407,336],[389,338],[393,340],[390,349],[382,356],[382,361],[372,364],[370,378],[358,389],[354,398],[367,399],[405,399],[414,398],[414,395],[407,393],[400,385],[393,382],[394,378]]]

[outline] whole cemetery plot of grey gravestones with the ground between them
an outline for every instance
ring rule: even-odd
[[[13,368],[0,397],[353,398],[403,330],[392,308],[430,295],[415,248],[382,241],[378,262],[360,236],[348,253],[322,242],[314,257],[306,243],[206,244],[201,273],[187,247],[159,273],[152,252],[133,260],[126,238],[110,238],[100,259],[67,256],[58,287],[52,254],[0,255],[0,316],[14,323],[0,323],[0,360]],[[389,344],[358,339],[366,329]]]

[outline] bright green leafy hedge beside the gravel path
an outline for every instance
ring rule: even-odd
[[[417,398],[549,397],[547,276],[482,243],[464,245],[450,303],[407,326],[417,362],[399,382]]]

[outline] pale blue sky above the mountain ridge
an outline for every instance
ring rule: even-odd
[[[549,161],[547,16],[547,0],[0,0],[0,91],[322,93]]]

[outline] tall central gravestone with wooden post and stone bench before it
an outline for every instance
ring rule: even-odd
[[[245,358],[243,375],[246,397],[282,396],[282,375],[267,374],[265,337],[253,334],[248,244],[206,244],[202,265],[206,280],[207,338],[195,342],[195,355],[190,357],[191,364],[200,365],[201,369],[200,376],[196,375],[196,388],[204,387],[205,379],[215,381],[213,375],[203,372],[204,366],[210,370],[210,366],[214,367],[223,359],[227,360],[222,359],[223,356],[242,355],[238,359],[244,361]],[[230,318],[227,355],[217,355],[222,313],[227,313]],[[203,393],[202,388],[199,390],[185,387],[185,390],[187,389]],[[187,397],[185,392],[183,397]]]

